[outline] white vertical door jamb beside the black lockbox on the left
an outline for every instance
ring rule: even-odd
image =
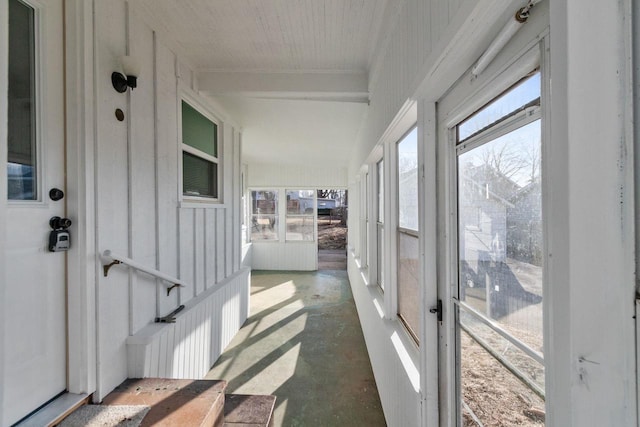
[[[95,243],[95,55],[93,2],[64,0],[67,213],[73,221],[67,253],[67,334],[70,393],[97,389]]]

